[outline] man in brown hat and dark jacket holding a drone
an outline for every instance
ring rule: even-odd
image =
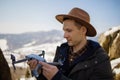
[[[73,8],[68,14],[60,14],[56,19],[63,24],[63,43],[56,50],[54,62],[62,61],[62,66],[31,60],[31,70],[42,65],[37,80],[113,80],[109,57],[103,48],[86,36],[94,37],[95,28],[90,24],[89,14]]]

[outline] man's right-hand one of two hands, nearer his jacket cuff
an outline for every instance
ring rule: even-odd
[[[48,80],[51,80],[58,72],[58,68],[56,66],[41,61],[39,62],[39,64],[42,65],[42,73]]]

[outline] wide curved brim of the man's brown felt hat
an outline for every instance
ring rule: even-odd
[[[77,17],[70,16],[70,15],[65,15],[65,14],[56,15],[56,19],[62,24],[63,24],[63,20],[65,18],[73,19],[77,22],[80,22],[82,25],[84,25],[87,28],[87,33],[86,33],[87,36],[90,36],[90,37],[96,36],[97,32],[96,32],[95,28],[91,24],[89,24],[88,22],[86,22],[82,19],[79,19]]]

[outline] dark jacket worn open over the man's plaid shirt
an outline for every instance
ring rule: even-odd
[[[52,80],[113,80],[109,57],[97,42],[89,40],[87,50],[72,66],[68,64],[68,50],[67,43],[57,48],[54,61],[62,61],[63,66]]]

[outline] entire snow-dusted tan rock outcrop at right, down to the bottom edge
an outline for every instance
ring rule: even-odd
[[[114,80],[120,80],[120,26],[102,33],[98,41],[111,59]]]

